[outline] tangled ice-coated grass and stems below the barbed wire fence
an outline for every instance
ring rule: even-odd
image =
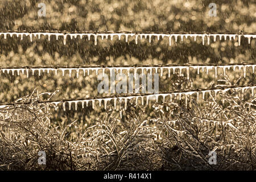
[[[188,107],[166,101],[152,106],[149,120],[146,107],[130,101],[122,119],[109,106],[86,130],[77,121],[53,127],[47,109],[53,106],[38,104],[41,96],[34,92],[18,100],[30,105],[0,110],[0,169],[255,169],[255,96],[229,92],[201,103],[191,98]],[[38,164],[40,150],[46,151],[46,166]],[[209,151],[217,152],[216,165],[209,165]]]

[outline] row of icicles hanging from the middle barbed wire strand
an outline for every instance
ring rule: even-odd
[[[180,65],[180,66],[162,66],[162,67],[84,67],[84,68],[0,68],[0,76],[1,73],[8,73],[8,74],[12,74],[14,76],[15,72],[17,73],[17,75],[19,76],[20,72],[22,74],[26,73],[27,77],[29,76],[29,72],[32,72],[32,75],[34,76],[35,72],[38,73],[38,75],[40,76],[41,73],[50,73],[50,72],[55,72],[55,75],[57,75],[57,72],[60,71],[62,73],[62,75],[64,76],[65,71],[68,71],[69,76],[71,77],[71,74],[73,71],[76,72],[77,78],[80,75],[80,71],[82,71],[84,73],[84,76],[87,75],[89,76],[90,73],[96,72],[96,75],[98,75],[99,71],[102,71],[102,74],[105,73],[106,69],[109,70],[110,72],[110,76],[113,74],[113,71],[122,73],[123,70],[127,71],[127,74],[130,73],[130,71],[133,69],[134,73],[137,73],[137,71],[139,69],[141,69],[141,71],[146,70],[147,72],[150,71],[150,73],[158,73],[158,70],[160,69],[160,76],[163,76],[163,71],[164,69],[168,70],[168,77],[171,76],[171,70],[173,71],[173,73],[175,74],[176,69],[179,71],[179,75],[181,75],[181,72],[183,69],[185,69],[185,71],[187,72],[187,78],[189,79],[189,75],[190,75],[190,68],[196,69],[197,70],[197,74],[199,75],[200,73],[200,69],[202,71],[207,72],[207,75],[209,73],[210,69],[214,69],[214,76],[217,77],[218,75],[218,68],[221,68],[222,71],[224,72],[224,75],[226,73],[226,69],[230,69],[232,68],[233,70],[236,70],[236,68],[238,68],[240,71],[241,69],[243,69],[243,76],[246,77],[246,71],[248,68],[251,68],[253,70],[255,70],[256,64],[237,64],[237,65]]]

